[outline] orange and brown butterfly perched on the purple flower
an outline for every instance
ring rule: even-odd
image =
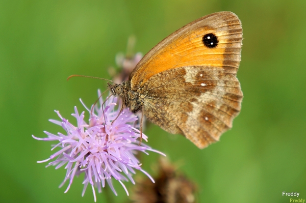
[[[152,48],[129,80],[108,83],[132,112],[203,149],[232,128],[243,94],[236,77],[242,26],[232,12],[201,17]]]

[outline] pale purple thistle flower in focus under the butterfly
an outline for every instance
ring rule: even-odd
[[[164,155],[143,143],[139,146],[138,138],[140,138],[140,131],[133,125],[138,118],[128,108],[124,108],[118,116],[121,105],[119,104],[115,108],[118,103],[117,98],[110,96],[103,105],[103,113],[101,107],[103,100],[100,95],[101,93],[98,91],[100,98],[99,107],[98,105],[92,105],[91,109],[88,109],[80,99],[84,107],[90,112],[89,124],[84,121],[84,111],[79,114],[77,107],[74,107],[75,113],[72,113],[72,116],[77,119],[77,127],[64,119],[59,111],[55,112],[62,121],[49,120],[54,124],[62,126],[66,131],[66,135],[62,133],[55,135],[46,131],[44,133],[47,134],[47,138],[38,138],[32,135],[37,140],[59,141],[52,150],[57,147],[61,149],[50,156],[50,158],[38,161],[38,163],[56,158],[56,160],[49,162],[47,166],[54,165],[58,169],[66,165],[66,177],[60,185],[62,187],[69,180],[65,193],[69,190],[74,176],[84,172],[82,196],[89,183],[92,187],[94,201],[96,201],[94,187],[98,189],[99,193],[102,192],[101,187],[105,187],[105,181],[109,184],[115,195],[117,195],[112,179],[117,180],[124,188],[126,194],[129,195],[122,181],[130,180],[135,184],[132,178],[133,173],[135,174],[135,169],[142,171],[154,182],[150,175],[141,168],[139,160],[135,157],[137,151],[145,154],[148,154],[147,151],[152,151]],[[142,134],[142,139],[147,141],[147,136]]]

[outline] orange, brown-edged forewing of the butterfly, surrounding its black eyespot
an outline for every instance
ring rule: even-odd
[[[213,33],[215,48],[206,47],[202,37]],[[242,27],[232,12],[213,13],[199,18],[169,35],[152,48],[130,75],[131,88],[142,86],[151,76],[184,66],[211,66],[237,73],[240,64]]]

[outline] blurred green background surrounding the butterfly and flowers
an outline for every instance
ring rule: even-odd
[[[236,13],[243,25],[238,71],[244,99],[232,130],[197,149],[179,135],[150,125],[148,144],[165,152],[198,185],[200,202],[289,202],[282,192],[306,198],[306,1],[1,1],[0,2],[0,202],[93,202],[83,176],[58,188],[65,170],[45,168],[50,143],[44,130],[60,128],[54,109],[75,123],[110,78],[108,67],[137,37],[146,53],[183,25],[218,11]],[[158,156],[143,156],[151,169]],[[131,185],[129,190],[131,190]],[[119,184],[115,202],[126,202]],[[105,192],[97,202],[106,202]],[[113,195],[114,196],[114,195]]]

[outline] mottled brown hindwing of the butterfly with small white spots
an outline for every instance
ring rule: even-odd
[[[170,133],[182,133],[199,148],[217,141],[240,112],[238,79],[224,69],[170,69],[147,82],[143,113]]]

